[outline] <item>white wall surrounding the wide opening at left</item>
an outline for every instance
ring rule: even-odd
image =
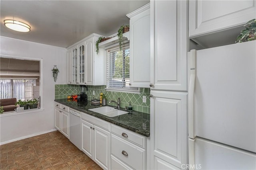
[[[54,84],[66,84],[66,49],[0,36],[0,55],[42,59],[43,111],[0,115],[0,144],[54,130]],[[54,82],[52,68],[60,72]]]

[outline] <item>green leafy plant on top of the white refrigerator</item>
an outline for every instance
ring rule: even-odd
[[[248,21],[244,27],[246,28],[238,35],[236,43],[256,40],[256,19]]]

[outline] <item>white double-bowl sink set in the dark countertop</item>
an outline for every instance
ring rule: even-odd
[[[118,109],[115,109],[114,107],[110,107],[110,106],[97,107],[97,108],[88,109],[88,110],[94,111],[96,113],[100,113],[100,114],[108,116],[108,117],[115,117],[115,116],[129,113],[127,111],[118,110]]]

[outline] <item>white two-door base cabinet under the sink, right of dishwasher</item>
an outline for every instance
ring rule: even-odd
[[[81,120],[82,151],[101,168],[110,169],[110,132],[108,129],[103,129],[108,128],[109,123],[84,113],[82,113],[82,118],[88,118],[91,121]],[[99,124],[96,124],[97,122]]]

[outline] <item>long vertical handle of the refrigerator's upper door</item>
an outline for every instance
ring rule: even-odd
[[[194,139],[194,92],[196,82],[196,50],[188,53],[190,57],[190,79],[188,84],[188,137]]]

